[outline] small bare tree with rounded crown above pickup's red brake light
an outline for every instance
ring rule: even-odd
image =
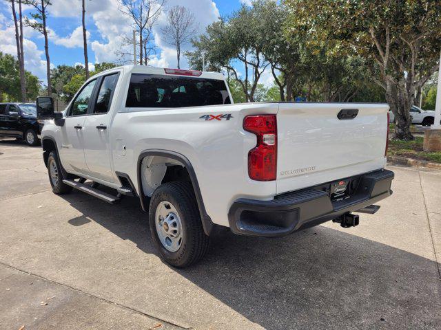
[[[194,14],[181,5],[175,5],[167,14],[167,25],[162,29],[165,42],[176,48],[178,69],[180,68],[181,47],[197,31]]]

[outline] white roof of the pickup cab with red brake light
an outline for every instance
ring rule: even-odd
[[[163,67],[148,67],[147,65],[123,65],[100,72],[99,75],[113,72],[117,69],[123,69],[125,73],[133,74],[166,74],[174,76],[192,76],[194,78],[207,78],[225,80],[225,76],[221,72],[207,72],[187,69],[172,69]]]

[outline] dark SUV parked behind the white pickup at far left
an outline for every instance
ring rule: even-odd
[[[16,137],[36,146],[42,127],[34,103],[0,103],[0,136]]]

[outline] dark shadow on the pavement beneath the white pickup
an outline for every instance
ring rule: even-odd
[[[63,196],[85,214],[72,225],[90,219],[156,254],[137,199],[110,206],[77,202],[79,194]],[[280,239],[220,232],[203,261],[174,270],[265,329],[440,329],[436,263],[350,233],[323,226]],[[188,308],[191,322],[198,312]]]

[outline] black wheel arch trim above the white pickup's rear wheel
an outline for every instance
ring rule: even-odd
[[[149,209],[148,204],[150,201],[150,197],[147,197],[144,194],[141,166],[143,164],[143,159],[145,159],[146,157],[150,157],[150,156],[171,158],[171,159],[174,159],[177,162],[180,162],[181,164],[183,164],[183,166],[187,170],[190,182],[193,186],[194,195],[196,196],[196,202],[198,204],[199,213],[201,214],[201,221],[202,221],[204,232],[205,232],[205,234],[209,235],[213,230],[214,224],[212,222],[212,219],[207,214],[207,211],[205,210],[205,205],[203,202],[201,189],[199,188],[196,173],[195,173],[194,168],[192,166],[192,163],[189,161],[189,159],[187,159],[187,157],[185,157],[184,155],[181,155],[180,153],[176,153],[174,151],[161,150],[161,149],[149,149],[149,150],[145,150],[139,154],[136,172],[137,172],[137,179],[138,179],[139,200],[141,202],[141,208],[143,208],[144,211],[147,211]]]

